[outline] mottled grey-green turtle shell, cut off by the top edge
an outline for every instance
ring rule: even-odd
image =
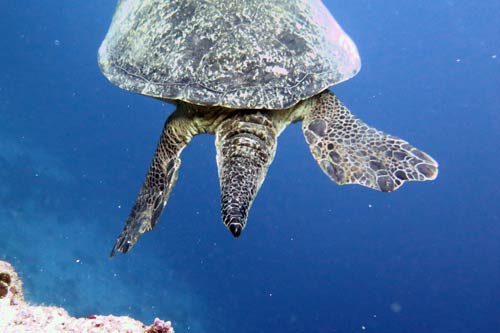
[[[99,65],[112,83],[148,96],[283,109],[361,63],[319,0],[121,0]]]

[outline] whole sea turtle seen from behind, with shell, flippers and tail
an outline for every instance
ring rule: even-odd
[[[112,256],[155,227],[180,154],[201,133],[215,134],[222,220],[235,237],[290,123],[302,121],[337,184],[390,192],[437,176],[429,155],[366,125],[328,90],[361,64],[320,0],[120,0],[99,65],[120,88],[176,106]]]

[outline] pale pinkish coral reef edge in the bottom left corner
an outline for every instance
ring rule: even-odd
[[[125,316],[74,318],[60,307],[27,304],[19,276],[0,260],[0,332],[174,333],[174,329],[169,321],[158,318],[146,326]]]

